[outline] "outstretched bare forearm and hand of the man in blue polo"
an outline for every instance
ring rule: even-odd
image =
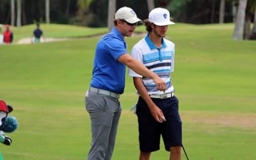
[[[140,61],[137,61],[134,58],[132,58],[130,54],[123,54],[118,58],[118,61],[120,61],[124,65],[127,65],[127,67],[134,70],[134,72],[136,72],[137,74],[153,79],[154,83],[156,83],[157,85],[158,90],[161,90],[163,92],[166,90],[166,85],[163,79],[161,79],[159,76],[157,76],[157,74],[155,74],[151,70],[148,70],[148,68],[146,68],[142,63],[140,63]]]

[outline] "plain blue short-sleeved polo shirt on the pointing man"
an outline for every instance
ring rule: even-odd
[[[123,36],[115,27],[99,40],[93,63],[92,87],[124,93],[125,65],[118,58],[128,53],[126,48]]]

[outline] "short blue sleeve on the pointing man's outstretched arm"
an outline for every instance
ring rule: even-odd
[[[108,53],[117,61],[120,56],[128,53],[125,49],[124,42],[116,39],[111,39],[105,42]]]

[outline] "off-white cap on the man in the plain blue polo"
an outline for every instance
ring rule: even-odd
[[[134,10],[126,6],[116,11],[115,20],[118,20],[118,19],[124,19],[131,24],[141,21],[140,19],[138,19]]]

